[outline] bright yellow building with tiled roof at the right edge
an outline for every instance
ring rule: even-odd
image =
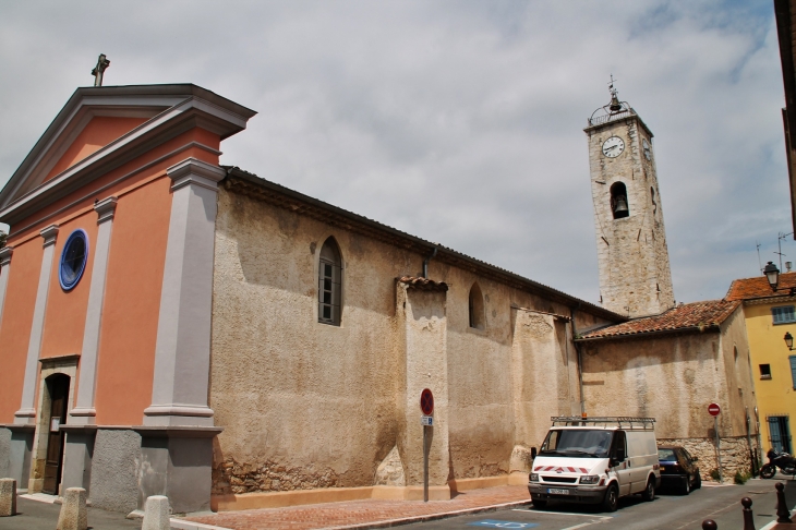
[[[793,453],[791,414],[796,415],[796,273],[779,275],[774,290],[765,276],[733,281],[727,300],[743,300],[763,453]]]

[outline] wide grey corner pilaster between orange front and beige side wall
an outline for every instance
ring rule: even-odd
[[[213,425],[210,370],[217,182],[227,172],[195,158],[168,168],[174,182],[160,293],[152,406],[144,425]]]

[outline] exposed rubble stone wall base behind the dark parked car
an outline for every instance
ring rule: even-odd
[[[752,436],[752,447],[755,437]],[[658,445],[680,445],[699,459],[699,472],[702,480],[711,479],[711,472],[717,469],[715,438],[659,438]],[[722,478],[732,482],[735,473],[751,471],[751,455],[746,436],[721,438]]]

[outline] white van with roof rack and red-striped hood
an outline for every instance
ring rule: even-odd
[[[652,418],[552,418],[533,458],[528,491],[533,506],[547,501],[602,504],[615,511],[619,497],[655,498],[661,484]]]

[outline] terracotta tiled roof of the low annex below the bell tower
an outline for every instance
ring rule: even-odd
[[[656,316],[635,318],[615,326],[588,332],[577,340],[622,338],[649,333],[701,333],[719,330],[719,326],[740,302],[708,300],[680,304]]]

